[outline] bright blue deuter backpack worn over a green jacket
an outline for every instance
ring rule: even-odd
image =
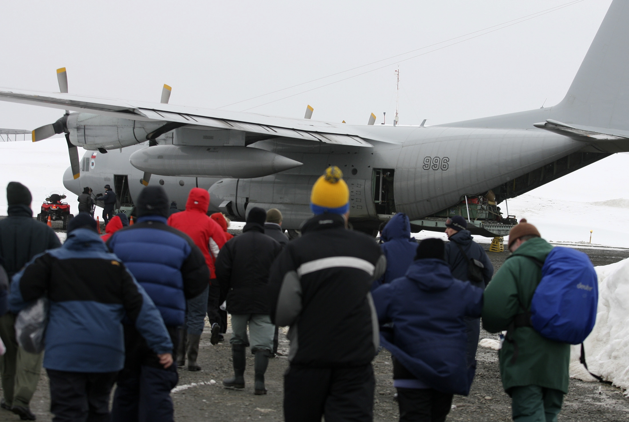
[[[553,248],[531,302],[533,329],[545,338],[578,345],[594,328],[597,305],[598,277],[588,256]]]

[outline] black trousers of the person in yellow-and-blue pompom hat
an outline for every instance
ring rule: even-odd
[[[284,374],[286,422],[374,420],[374,370],[371,364],[353,368],[289,366]]]

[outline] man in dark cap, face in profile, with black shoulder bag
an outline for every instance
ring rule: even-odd
[[[445,261],[450,265],[452,277],[484,289],[494,275],[494,266],[491,265],[485,249],[472,240],[474,237],[467,230],[467,222],[460,215],[447,219],[445,226],[445,234],[448,235],[449,240],[445,245]],[[467,274],[470,259],[481,261],[484,267],[482,269],[482,282],[474,283],[469,280]],[[467,366],[471,369],[476,368],[476,350],[481,337],[481,319],[465,317],[465,325],[467,326]]]

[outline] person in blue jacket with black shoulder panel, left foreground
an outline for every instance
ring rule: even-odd
[[[125,264],[109,253],[87,212],[70,220],[64,246],[38,254],[13,276],[11,312],[18,314],[41,297],[50,301],[43,367],[53,420],[109,420],[111,388],[125,363],[123,318],[156,362],[174,366],[159,311]]]

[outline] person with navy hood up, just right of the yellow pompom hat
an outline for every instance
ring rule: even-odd
[[[381,278],[374,281],[371,291],[384,283],[391,283],[406,274],[406,270],[413,263],[417,250],[417,241],[411,237],[411,223],[403,212],[394,215],[381,232],[380,245],[382,253],[387,258],[387,270]]]

